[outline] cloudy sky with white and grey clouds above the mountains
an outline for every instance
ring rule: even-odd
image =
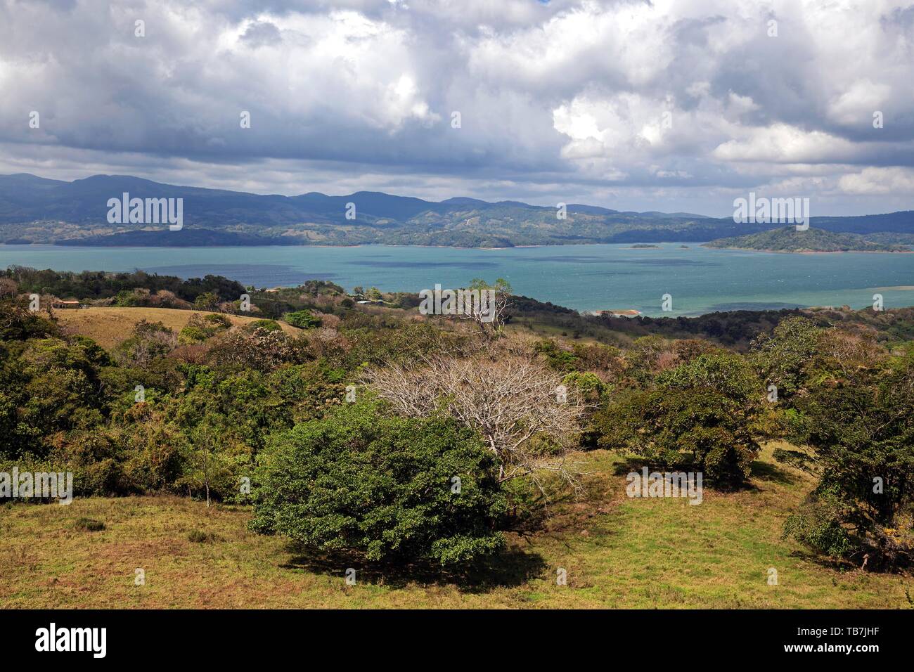
[[[914,0],[0,0],[0,174],[19,172],[914,209]]]

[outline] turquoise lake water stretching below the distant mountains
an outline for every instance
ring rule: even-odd
[[[0,245],[11,264],[56,271],[133,271],[225,275],[246,285],[330,280],[388,292],[461,287],[503,277],[515,293],[576,310],[634,308],[645,315],[849,304],[882,293],[887,308],[914,304],[914,254],[775,254],[708,250],[694,244],[568,245],[508,250],[364,246],[100,248]],[[893,289],[894,288],[894,289]],[[663,312],[662,297],[673,297]]]

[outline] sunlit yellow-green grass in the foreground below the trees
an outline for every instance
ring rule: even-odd
[[[547,526],[511,535],[482,581],[405,571],[384,576],[303,558],[247,529],[250,510],[173,496],[0,507],[0,607],[642,607],[911,608],[910,576],[839,568],[808,556],[781,527],[811,482],[775,464],[753,487],[704,502],[628,499],[612,453],[580,454],[587,494]],[[105,529],[74,527],[80,517]],[[191,532],[205,542],[189,540]],[[778,584],[768,584],[769,568]],[[145,584],[134,584],[142,568]],[[557,585],[557,570],[568,584]]]

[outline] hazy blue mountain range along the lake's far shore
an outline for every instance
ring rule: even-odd
[[[183,198],[184,227],[109,223],[109,198]],[[352,204],[350,206],[350,204]],[[441,202],[360,191],[261,195],[179,187],[133,176],[72,182],[27,174],[0,176],[0,242],[63,245],[450,245],[511,247],[572,243],[703,242],[774,229],[686,212],[631,212],[569,204],[557,208],[453,197]],[[347,218],[347,213],[349,217]],[[354,216],[354,218],[353,218]],[[813,218],[842,233],[914,236],[914,212]]]

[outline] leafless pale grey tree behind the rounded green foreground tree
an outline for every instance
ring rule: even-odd
[[[444,413],[472,427],[497,456],[501,481],[530,476],[542,489],[537,472],[547,470],[577,485],[565,457],[580,431],[584,404],[532,357],[501,348],[436,355],[369,369],[362,382],[400,415]]]

